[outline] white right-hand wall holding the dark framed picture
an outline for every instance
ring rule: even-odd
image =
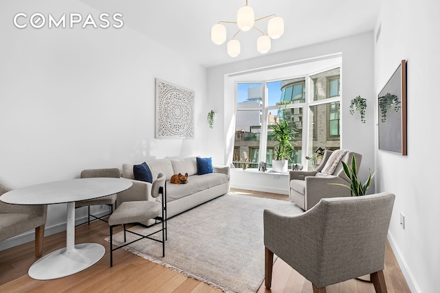
[[[438,292],[439,1],[386,0],[375,32],[375,95],[407,60],[408,156],[375,150],[377,191],[396,195],[390,239],[412,292]],[[377,119],[376,119],[377,123]],[[375,129],[377,134],[377,129]],[[377,135],[375,135],[377,137]],[[399,224],[405,216],[405,229]]]

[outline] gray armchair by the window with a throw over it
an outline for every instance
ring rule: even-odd
[[[289,198],[301,209],[307,211],[314,207],[321,198],[335,198],[350,196],[350,189],[329,183],[350,185],[347,176],[344,174],[342,161],[350,165],[352,156],[356,158],[356,165],[359,169],[362,155],[355,152],[347,152],[342,157],[333,174],[324,174],[327,161],[333,151],[326,150],[322,161],[315,171],[290,171],[289,172]]]

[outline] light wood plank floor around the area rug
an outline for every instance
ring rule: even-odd
[[[232,191],[246,196],[287,200],[287,196],[280,194],[240,189]],[[76,243],[102,244],[106,248],[104,257],[83,272],[50,281],[38,281],[28,276],[29,267],[36,261],[33,242],[0,251],[0,292],[221,292],[206,283],[185,277],[123,249],[113,253],[113,268],[110,268],[109,243],[104,241],[104,237],[108,235],[109,226],[102,221],[92,222],[89,226],[78,226]],[[65,232],[45,237],[43,255],[63,247]],[[388,292],[410,292],[389,245],[386,247],[384,275]],[[309,281],[284,261],[277,259],[274,263],[272,290],[266,290],[262,285],[258,292],[312,292],[312,289]],[[327,292],[375,291],[371,283],[350,280],[328,286]]]

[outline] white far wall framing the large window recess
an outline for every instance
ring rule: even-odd
[[[373,93],[373,32],[359,34],[326,43],[283,51],[278,54],[261,56],[243,62],[208,69],[208,99],[219,112],[220,119],[214,127],[215,139],[209,148],[214,150],[217,159],[230,163],[234,149],[234,83],[230,82],[232,73],[251,72],[262,68],[273,68],[287,63],[301,63],[303,60],[333,54],[342,54],[342,148],[363,155],[361,176],[367,176],[369,168],[374,167],[374,103]],[[349,114],[351,99],[361,95],[368,100],[366,124],[360,122],[359,115]],[[223,119],[223,121],[221,121]],[[226,144],[217,144],[223,140]],[[273,180],[272,189],[279,189]],[[252,189],[252,174],[248,187]],[[287,189],[287,186],[286,186]]]

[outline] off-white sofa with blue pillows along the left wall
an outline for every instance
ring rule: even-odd
[[[153,180],[157,174],[166,176],[166,210],[168,218],[197,207],[197,205],[226,194],[230,187],[230,167],[212,166],[213,173],[197,175],[197,159],[195,156],[186,159],[161,159],[146,162],[151,170]],[[133,200],[155,200],[151,196],[151,183],[135,180],[133,163],[122,165],[122,177],[132,180],[133,186],[118,194],[117,204]],[[187,184],[170,183],[173,174],[188,173]],[[153,224],[150,220],[146,225]]]

